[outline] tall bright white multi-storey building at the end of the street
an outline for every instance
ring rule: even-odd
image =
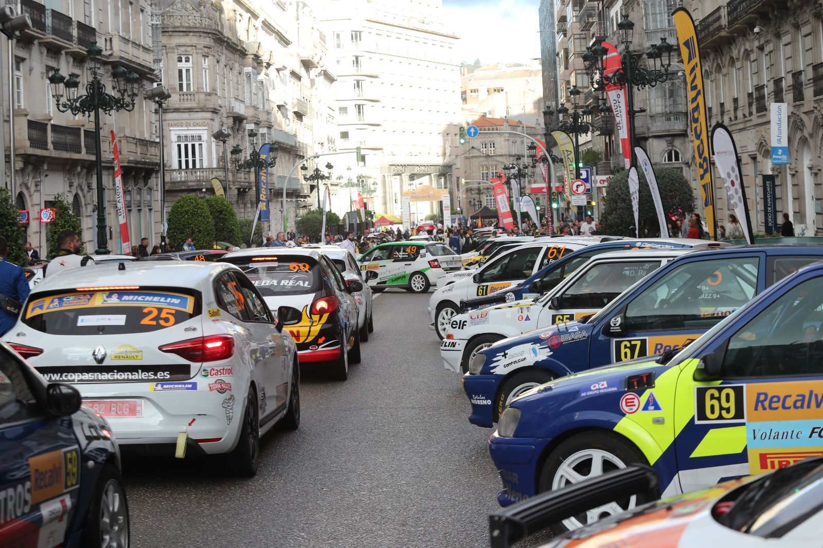
[[[403,192],[420,183],[450,187],[457,134],[449,124],[460,118],[458,37],[444,21],[440,0],[318,3],[327,66],[337,76],[337,150],[352,151],[332,160],[335,174],[369,177],[376,183],[372,207],[399,216]],[[332,204],[338,213],[348,211],[348,189]],[[421,207],[419,214],[425,212]]]

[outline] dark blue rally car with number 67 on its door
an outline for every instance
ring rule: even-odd
[[[591,318],[478,351],[463,375],[469,421],[490,427],[514,397],[552,378],[677,350],[775,281],[821,258],[823,246],[816,244],[714,248],[676,258]]]

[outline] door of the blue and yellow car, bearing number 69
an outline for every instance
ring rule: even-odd
[[[714,360],[716,378],[695,380],[696,358]],[[821,273],[801,274],[718,332],[683,367],[676,398],[683,492],[823,455]]]

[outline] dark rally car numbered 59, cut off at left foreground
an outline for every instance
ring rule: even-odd
[[[0,343],[0,546],[128,546],[109,424]]]

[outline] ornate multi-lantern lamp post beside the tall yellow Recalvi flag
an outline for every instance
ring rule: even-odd
[[[651,62],[651,67],[641,67],[639,57],[635,57],[630,53],[632,38],[635,33],[635,23],[629,19],[629,16],[624,15],[623,19],[617,23],[617,30],[620,32],[621,44],[623,44],[623,53],[621,56],[621,67],[617,68],[610,74],[606,74],[603,67],[603,57],[608,53],[606,46],[598,41],[596,45],[586,48],[586,53],[583,54],[583,61],[586,67],[589,81],[597,91],[605,89],[605,84],[615,84],[617,86],[626,86],[626,108],[628,109],[629,118],[629,149],[630,149],[630,165],[635,165],[635,114],[645,112],[645,109],[635,110],[635,87],[643,89],[644,87],[654,87],[658,83],[663,83],[668,80],[669,67],[672,66],[672,44],[666,41],[666,37],[660,38],[660,44],[652,44],[646,52],[646,58]]]

